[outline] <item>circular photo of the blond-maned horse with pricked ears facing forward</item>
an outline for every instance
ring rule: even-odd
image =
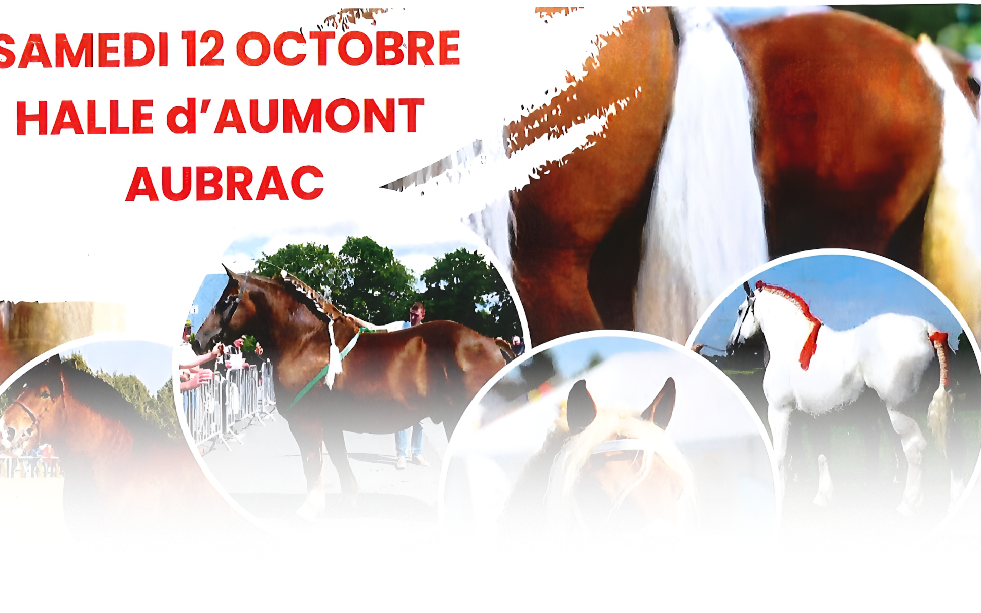
[[[443,462],[439,515],[471,536],[774,536],[776,473],[739,389],[641,332],[581,332],[488,382]]]

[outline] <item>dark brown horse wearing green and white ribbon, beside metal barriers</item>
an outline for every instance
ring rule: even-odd
[[[336,347],[343,350],[355,339],[358,325],[291,275],[269,279],[226,272],[229,283],[195,333],[192,347],[201,353],[242,334],[262,344],[275,367],[280,412],[303,459],[307,498],[297,514],[304,519],[315,519],[325,507],[322,446],[337,470],[344,499],[353,505],[357,482],[344,431],[391,434],[431,417],[442,422],[448,437],[470,400],[505,363],[505,341],[454,322],[430,322],[399,332],[358,335],[332,388],[322,372],[331,356],[330,328]]]

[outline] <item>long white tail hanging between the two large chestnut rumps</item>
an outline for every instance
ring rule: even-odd
[[[634,303],[638,331],[685,342],[726,284],[768,258],[743,66],[708,10],[672,14],[680,35],[674,108]]]

